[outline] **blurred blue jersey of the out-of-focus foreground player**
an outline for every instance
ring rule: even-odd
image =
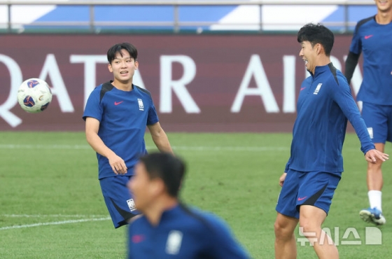
[[[157,226],[141,216],[128,232],[129,259],[250,258],[220,218],[183,205],[165,211]]]

